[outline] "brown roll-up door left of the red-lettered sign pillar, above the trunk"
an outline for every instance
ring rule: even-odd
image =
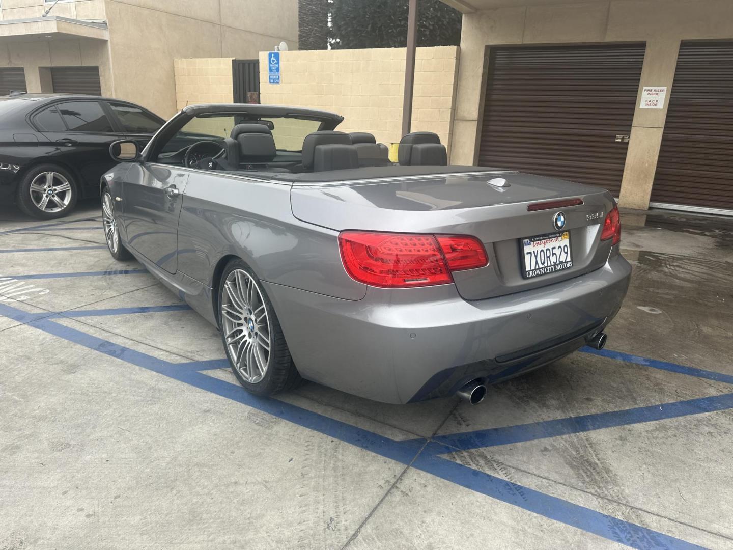
[[[479,165],[589,183],[618,197],[644,48],[491,48]]]

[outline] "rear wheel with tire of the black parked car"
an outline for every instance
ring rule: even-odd
[[[76,205],[78,186],[67,169],[56,164],[33,166],[18,185],[18,207],[37,219],[66,216]]]

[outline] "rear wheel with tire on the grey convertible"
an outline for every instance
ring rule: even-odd
[[[240,384],[273,395],[300,384],[270,298],[242,260],[232,260],[219,284],[219,326],[226,357]]]

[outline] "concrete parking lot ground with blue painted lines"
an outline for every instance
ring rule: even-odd
[[[99,218],[0,212],[0,549],[733,549],[733,220],[626,213],[607,350],[471,407],[246,394]]]

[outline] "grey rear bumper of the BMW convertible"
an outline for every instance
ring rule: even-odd
[[[265,283],[304,378],[361,397],[408,403],[499,381],[580,348],[607,325],[631,266],[616,254],[592,273],[465,301],[454,285],[386,290],[359,301]]]

